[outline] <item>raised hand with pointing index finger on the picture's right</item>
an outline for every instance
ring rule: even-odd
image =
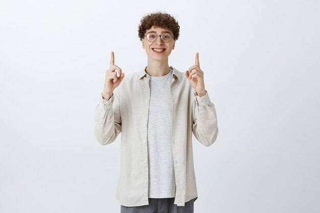
[[[188,78],[191,86],[195,88],[195,90],[197,91],[198,96],[204,96],[205,88],[204,88],[203,72],[200,69],[199,53],[196,53],[195,64],[189,67],[185,75]]]

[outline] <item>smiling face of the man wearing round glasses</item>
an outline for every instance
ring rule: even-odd
[[[157,35],[162,35],[164,32],[169,32],[172,36],[169,42],[164,42],[161,39],[161,36],[158,36],[157,39],[153,42],[148,41],[147,37],[142,39],[142,48],[146,50],[148,57],[153,60],[164,60],[169,57],[171,51],[174,50],[175,40],[173,39],[173,33],[171,30],[152,26],[149,30],[146,31],[145,35],[149,32],[154,31]],[[154,49],[161,52],[155,51]]]

